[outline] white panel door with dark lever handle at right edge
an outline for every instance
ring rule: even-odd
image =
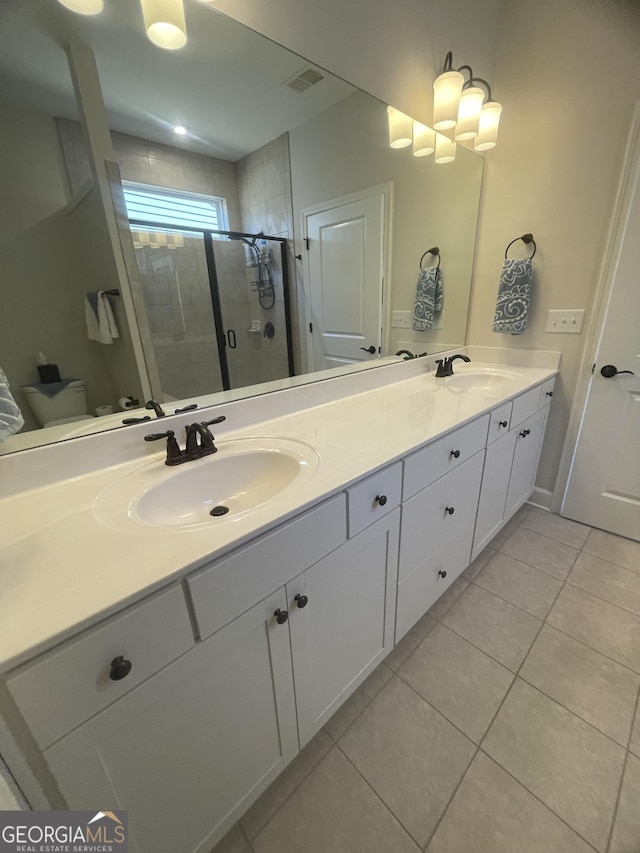
[[[637,146],[640,152],[640,145]],[[562,514],[640,540],[640,185],[628,218]],[[619,371],[608,378],[605,365]]]

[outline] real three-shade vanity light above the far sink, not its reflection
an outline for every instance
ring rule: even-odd
[[[434,128],[453,129],[456,140],[473,140],[474,151],[488,151],[496,144],[501,112],[487,81],[475,77],[470,65],[454,68],[453,53],[449,51],[442,74],[433,84]]]

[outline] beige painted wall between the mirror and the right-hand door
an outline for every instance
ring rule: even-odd
[[[622,0],[506,0],[495,90],[504,120],[486,162],[468,342],[562,351],[537,483],[551,491],[585,336],[545,334],[545,315],[586,308],[589,319],[640,98],[640,9]],[[526,231],[538,244],[533,311],[525,334],[496,335],[504,248]]]

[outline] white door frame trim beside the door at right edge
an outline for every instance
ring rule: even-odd
[[[578,439],[580,437],[580,431],[586,413],[589,391],[591,388],[591,370],[593,365],[596,363],[598,348],[600,346],[604,330],[604,323],[609,309],[609,301],[613,291],[615,273],[620,253],[622,251],[627,222],[629,220],[631,205],[639,177],[640,101],[636,103],[633,110],[631,127],[622,162],[622,171],[613,205],[613,214],[607,231],[607,237],[604,242],[605,249],[592,303],[593,310],[587,324],[585,345],[582,351],[580,370],[576,383],[576,393],[571,407],[569,425],[567,427],[564,447],[558,468],[558,477],[551,501],[552,512],[562,512],[562,507],[564,505],[569,486],[569,475],[571,473],[571,468],[573,466],[573,461],[578,447]],[[638,186],[638,192],[640,192],[640,185]]]

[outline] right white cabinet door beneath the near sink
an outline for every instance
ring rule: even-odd
[[[393,647],[399,516],[287,584],[301,747]]]

